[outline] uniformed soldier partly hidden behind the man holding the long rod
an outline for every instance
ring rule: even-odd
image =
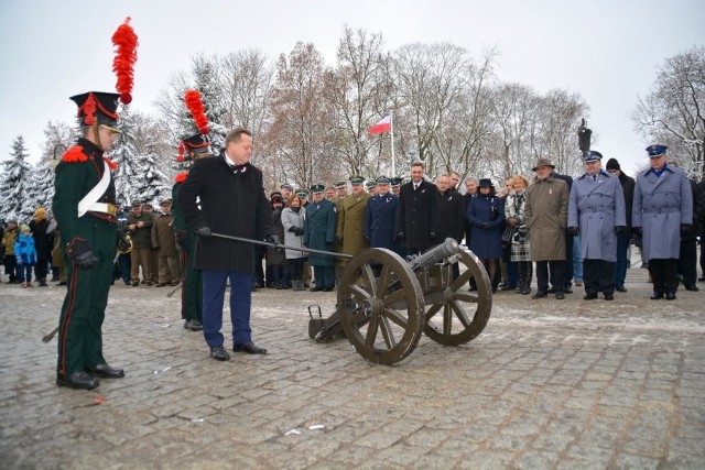
[[[213,156],[213,150],[208,139],[197,133],[182,141],[177,161],[184,166],[185,172],[176,175],[172,187],[172,216],[174,216],[173,229],[176,242],[181,247],[181,317],[184,319],[184,328],[189,331],[203,330],[203,280],[200,270],[194,269],[194,249],[196,234],[188,230],[186,217],[178,203],[178,193],[188,177],[188,168],[196,159]]]

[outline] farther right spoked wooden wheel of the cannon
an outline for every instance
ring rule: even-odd
[[[423,331],[446,346],[475,339],[485,329],[492,309],[492,287],[485,266],[473,252],[462,251],[457,256],[466,267],[460,276],[452,281],[452,264],[443,264],[440,285],[424,295],[427,309]],[[468,292],[470,277],[475,277],[477,292]]]

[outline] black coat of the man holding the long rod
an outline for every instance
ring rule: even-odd
[[[196,203],[200,198],[200,208]],[[192,231],[256,239],[275,234],[264,197],[262,172],[247,163],[235,170],[225,154],[198,159],[178,190],[178,205]],[[194,267],[204,271],[254,272],[254,245],[218,237],[198,237]]]

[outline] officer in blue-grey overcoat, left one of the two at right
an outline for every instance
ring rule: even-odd
[[[585,174],[573,182],[568,200],[568,229],[581,234],[581,258],[586,300],[615,294],[617,237],[626,230],[625,195],[619,178],[601,168],[603,154],[584,154]]]

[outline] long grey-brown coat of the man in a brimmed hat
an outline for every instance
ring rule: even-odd
[[[568,185],[549,176],[527,189],[524,206],[532,261],[565,260]]]

